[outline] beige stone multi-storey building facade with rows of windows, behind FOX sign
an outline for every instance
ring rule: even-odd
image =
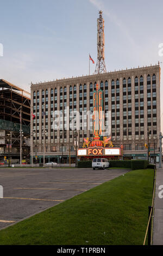
[[[55,160],[56,162],[60,156],[64,156],[65,162],[68,162],[69,151],[73,150],[75,138],[73,138],[73,132],[70,132],[68,129],[65,129],[65,132],[63,130],[62,134],[64,135],[61,135],[60,130],[54,132],[51,129],[52,121],[54,120],[52,112],[54,110],[64,110],[64,106],[65,108],[66,106],[70,107],[71,110],[81,111],[83,109],[89,111],[92,107],[91,83],[93,88],[96,83],[103,86],[104,111],[105,109],[111,111],[112,142],[117,146],[123,145],[124,158],[145,158],[147,149],[143,145],[148,143],[148,128],[151,156],[154,152],[158,153],[160,133],[160,66],[156,65],[32,84],[31,111],[34,112],[36,118],[34,121],[31,120],[30,127],[32,133],[35,130],[33,151],[36,151],[37,156],[40,156],[40,159],[43,156],[42,90],[45,92],[45,126],[48,134],[45,145],[45,155],[48,157],[46,162],[48,160]],[[80,90],[81,85],[82,91]],[[74,86],[76,91],[73,90]],[[108,89],[107,92],[105,92],[105,87]],[[61,88],[62,92],[60,93]],[[54,91],[57,93],[54,94]],[[67,118],[69,118],[68,115],[70,115],[70,112],[68,112]],[[88,123],[89,118],[87,117],[87,127]],[[69,126],[67,122],[66,125]],[[91,138],[92,136],[92,131],[87,128],[77,130],[77,132],[79,146],[83,144],[84,137]],[[154,144],[155,150],[153,148]],[[74,157],[75,153],[71,152],[71,156]]]

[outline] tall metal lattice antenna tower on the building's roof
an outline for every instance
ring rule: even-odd
[[[97,64],[95,74],[106,73],[105,57],[104,57],[104,19],[102,10],[99,11],[99,18],[97,19]]]

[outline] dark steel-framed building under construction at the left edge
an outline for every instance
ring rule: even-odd
[[[30,93],[1,79],[0,163],[19,164],[20,151],[22,163],[30,163]]]

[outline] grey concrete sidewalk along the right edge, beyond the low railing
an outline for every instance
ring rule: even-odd
[[[159,198],[159,186],[163,186],[163,167],[156,166],[156,187],[154,201],[153,245],[163,245],[163,198]]]

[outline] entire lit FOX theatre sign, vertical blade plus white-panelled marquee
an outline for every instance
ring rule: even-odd
[[[114,147],[111,136],[104,136],[103,91],[96,85],[93,91],[93,140],[84,138],[83,148],[78,149],[78,159],[122,159],[123,146]]]

